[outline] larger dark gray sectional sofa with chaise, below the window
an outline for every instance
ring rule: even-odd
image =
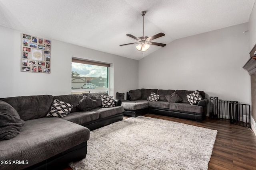
[[[0,169],[61,169],[64,162],[85,158],[90,130],[123,119],[121,102],[102,108],[101,94],[83,94],[98,101],[91,111],[78,109],[82,94],[1,98],[0,112],[16,110],[25,124],[16,137],[0,141],[0,160],[10,161],[2,162]],[[73,105],[66,117],[46,117],[54,99]],[[17,160],[20,162],[13,163]]]

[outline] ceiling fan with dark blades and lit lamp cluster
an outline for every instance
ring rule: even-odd
[[[162,44],[162,43],[156,43],[156,42],[152,42],[153,39],[157,39],[159,37],[162,37],[164,36],[165,34],[164,33],[158,33],[156,35],[153,35],[151,37],[147,37],[147,36],[144,36],[144,16],[146,14],[146,11],[142,11],[140,13],[143,17],[143,35],[142,37],[135,37],[131,34],[126,34],[128,37],[131,37],[133,39],[136,39],[138,42],[136,43],[128,43],[128,44],[122,44],[122,45],[119,45],[119,46],[123,46],[123,45],[131,45],[131,44],[139,44],[136,46],[136,49],[139,50],[139,51],[147,51],[149,49],[149,44],[150,45],[157,45],[157,46],[161,46],[161,47],[164,47],[166,46],[166,44]]]

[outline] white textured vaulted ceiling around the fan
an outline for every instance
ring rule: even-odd
[[[170,43],[248,22],[255,0],[0,0],[0,25],[131,59],[142,52],[127,37],[165,33]],[[245,30],[246,31],[246,30]],[[150,46],[144,57],[165,47]]]

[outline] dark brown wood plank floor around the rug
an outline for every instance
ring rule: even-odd
[[[162,115],[144,116],[217,130],[208,170],[256,170],[256,136],[249,128],[230,124],[228,120],[208,117],[198,123]],[[67,167],[65,170],[72,168]]]

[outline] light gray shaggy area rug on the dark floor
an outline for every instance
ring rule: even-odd
[[[86,158],[73,170],[207,170],[217,131],[130,117],[90,132]]]

